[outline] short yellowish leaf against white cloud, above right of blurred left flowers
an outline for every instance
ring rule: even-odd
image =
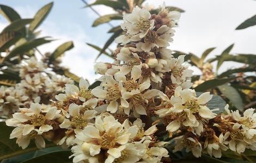
[[[55,51],[51,54],[50,60],[56,60],[58,57],[60,57],[63,53],[66,51],[69,51],[70,49],[74,48],[74,44],[72,41],[65,42],[59,47],[55,49]]]

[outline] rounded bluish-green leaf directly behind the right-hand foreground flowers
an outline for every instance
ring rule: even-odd
[[[203,92],[197,92],[197,96],[199,97]],[[219,109],[214,111],[216,114],[221,114],[224,112],[225,105],[227,103],[224,101],[224,99],[221,96],[212,95],[212,99],[207,103],[207,107],[211,110],[213,109]]]

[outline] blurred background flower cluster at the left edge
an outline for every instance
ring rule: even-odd
[[[56,75],[42,61],[31,57],[22,60],[20,68],[20,83],[15,86],[1,86],[0,116],[9,117],[19,108],[28,107],[32,102],[48,104],[51,98],[64,91],[65,84],[73,84],[70,78]]]

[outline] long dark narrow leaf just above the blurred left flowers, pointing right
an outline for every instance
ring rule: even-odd
[[[33,49],[35,47],[38,47],[42,44],[51,42],[52,40],[46,40],[46,37],[42,37],[39,39],[35,39],[32,41],[28,41],[26,43],[23,43],[20,46],[15,47],[8,55],[4,58],[4,60],[8,60],[10,58],[15,57],[17,54],[23,54],[25,52],[28,52],[30,49]]]

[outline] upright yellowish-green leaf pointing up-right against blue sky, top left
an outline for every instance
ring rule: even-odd
[[[47,17],[47,15],[52,9],[52,6],[53,6],[53,2],[48,3],[44,7],[42,7],[40,10],[38,10],[38,12],[36,12],[34,16],[34,21],[31,22],[28,28],[30,31],[35,30],[45,20],[45,18]]]

